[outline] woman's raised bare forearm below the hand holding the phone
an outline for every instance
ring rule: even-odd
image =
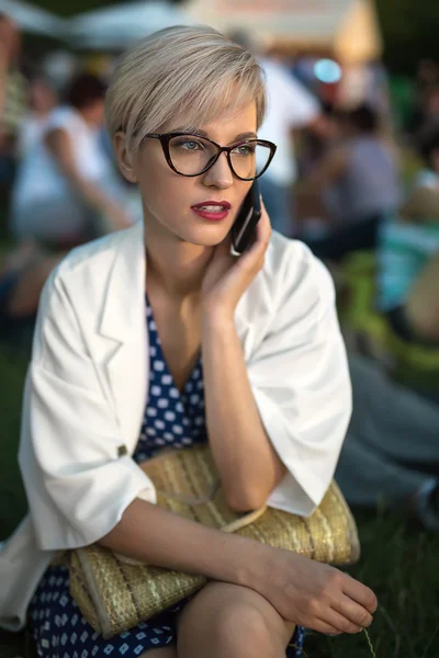
[[[261,422],[233,321],[203,320],[206,424],[229,506],[263,504],[285,469]]]

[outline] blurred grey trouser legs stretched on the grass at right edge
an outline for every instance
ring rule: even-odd
[[[373,361],[349,356],[353,411],[336,480],[349,504],[380,502],[439,530],[439,406]]]

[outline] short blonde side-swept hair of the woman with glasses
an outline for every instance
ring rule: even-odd
[[[178,25],[151,34],[121,58],[105,117],[110,134],[123,129],[136,149],[145,135],[171,121],[190,131],[250,101],[259,127],[266,88],[254,55],[212,27]]]

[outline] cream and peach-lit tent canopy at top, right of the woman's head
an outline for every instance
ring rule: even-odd
[[[372,0],[187,0],[183,8],[222,32],[245,30],[268,42],[326,48],[346,63],[382,52]]]

